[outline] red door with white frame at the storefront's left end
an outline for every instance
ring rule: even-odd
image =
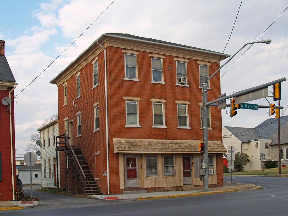
[[[138,157],[125,156],[125,183],[126,187],[138,187]]]

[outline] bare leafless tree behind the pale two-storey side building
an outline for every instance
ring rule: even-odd
[[[58,119],[58,113],[54,113],[51,116],[48,116],[47,118],[44,119],[44,121],[41,125],[37,125],[36,127],[38,129],[42,128],[43,126],[49,124],[50,122],[54,121],[55,119]],[[29,142],[26,146],[26,150],[32,151],[32,152],[41,151],[41,147],[36,144],[36,142],[38,140],[40,140],[40,134],[39,133],[31,134]]]

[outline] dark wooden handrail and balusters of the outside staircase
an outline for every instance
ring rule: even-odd
[[[73,168],[77,171],[76,175],[78,174],[77,176],[79,176],[79,178],[80,178],[79,180],[82,180],[82,182],[84,184],[84,190],[86,190],[86,176],[85,176],[85,173],[83,172],[82,167],[81,167],[81,165],[80,165],[80,163],[79,163],[79,161],[78,161],[78,159],[77,159],[77,157],[75,155],[75,152],[73,151],[72,146],[69,143],[67,135],[66,134],[62,134],[62,135],[56,137],[56,139],[64,139],[64,151],[65,151],[65,154],[66,154],[66,152],[69,152],[69,154],[71,155],[71,158],[73,159],[73,163],[71,163],[71,164],[72,165],[76,164],[76,166],[73,166]],[[63,143],[63,142],[59,141],[59,142],[56,142],[56,143]]]

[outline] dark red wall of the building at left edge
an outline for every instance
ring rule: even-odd
[[[12,88],[8,88],[7,91],[0,90],[0,100],[9,96],[9,91]],[[12,98],[12,142],[13,142],[13,171],[14,171],[14,188],[16,190],[16,166],[15,166],[15,127],[14,127],[14,94],[11,93]],[[0,182],[0,201],[13,200],[12,193],[12,169],[11,169],[11,143],[10,143],[10,116],[7,112],[7,106],[0,103],[0,151],[1,151],[1,173],[2,181]]]

